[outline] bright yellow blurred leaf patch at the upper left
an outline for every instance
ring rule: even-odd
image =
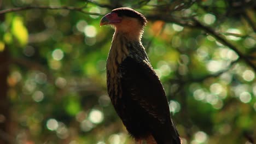
[[[19,41],[20,45],[24,46],[28,41],[27,28],[23,25],[22,19],[19,16],[14,17],[11,26],[11,33]]]

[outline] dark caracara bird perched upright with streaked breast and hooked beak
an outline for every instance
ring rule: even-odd
[[[126,7],[102,17],[100,26],[115,29],[106,64],[108,95],[136,143],[182,143],[164,87],[141,42],[146,24],[146,17]]]

